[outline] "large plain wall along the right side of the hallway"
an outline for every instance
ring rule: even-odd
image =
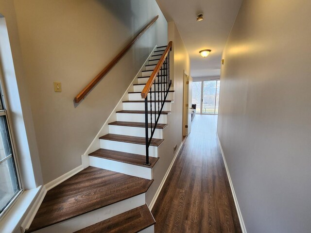
[[[310,233],[311,1],[243,1],[218,134],[248,233]]]

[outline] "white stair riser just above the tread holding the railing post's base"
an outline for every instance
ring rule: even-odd
[[[146,146],[141,144],[100,139],[102,149],[146,155]],[[157,158],[157,147],[149,147],[149,156]]]

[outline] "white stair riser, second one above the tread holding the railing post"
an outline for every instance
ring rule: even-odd
[[[163,138],[162,129],[155,129],[154,138]],[[129,127],[129,126],[121,126],[121,125],[109,125],[109,133],[134,136],[134,137],[144,137],[145,136],[145,128],[141,127]],[[151,135],[151,129],[149,128],[148,132],[149,136]]]

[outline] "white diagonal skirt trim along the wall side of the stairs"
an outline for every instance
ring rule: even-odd
[[[111,118],[114,116],[115,119],[117,117],[116,115],[116,111],[120,108],[120,106],[122,106],[122,101],[125,98],[125,96],[128,94],[129,89],[133,88],[133,83],[135,82],[135,80],[137,79],[138,75],[140,74],[140,72],[142,71],[142,69],[146,66],[146,64],[149,61],[149,58],[151,57],[151,55],[153,54],[153,52],[156,50],[157,45],[155,45],[155,48],[151,51],[151,53],[149,54],[149,56],[147,57],[147,59],[145,60],[145,62],[143,63],[143,65],[140,67],[138,73],[136,74],[135,78],[133,79],[133,81],[130,83],[130,85],[128,86],[128,88],[126,89],[126,91],[124,92],[123,96],[121,97],[121,99],[119,100],[118,104],[116,105],[116,107],[112,110],[111,114],[109,115],[109,117],[106,119],[106,121],[104,122],[104,125],[102,126],[102,128],[100,129],[100,131],[96,134],[96,136],[94,137],[93,141],[91,142],[91,144],[88,146],[88,148],[86,149],[86,151],[84,152],[84,154],[82,155],[82,162],[84,167],[89,166],[89,158],[88,158],[88,154],[100,149],[100,143],[99,143],[99,137],[102,136],[102,134],[105,132],[105,130],[108,132],[108,123],[111,121]],[[88,160],[88,161],[87,161]]]

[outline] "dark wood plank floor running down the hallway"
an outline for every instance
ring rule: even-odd
[[[155,233],[242,233],[217,136],[217,116],[196,115],[155,202]]]

